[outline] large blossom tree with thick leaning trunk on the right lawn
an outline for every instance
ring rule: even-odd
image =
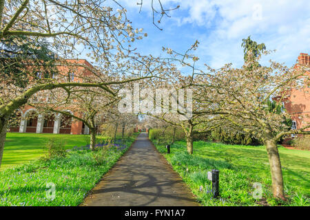
[[[252,56],[251,51],[247,56]],[[285,199],[277,142],[285,135],[309,134],[310,124],[291,130],[286,123],[291,115],[285,111],[278,113],[276,108],[270,111],[268,102],[276,98],[278,104],[282,105],[282,101],[287,100],[290,89],[302,89],[304,84],[301,82],[307,82],[309,76],[305,74],[304,67],[288,68],[276,62],[271,62],[270,67],[253,65],[251,69],[247,68],[258,59],[259,57],[252,57],[253,61],[245,63],[240,69],[227,65],[214,71],[214,76],[211,77],[216,90],[214,102],[221,103],[226,113],[222,115],[223,123],[230,124],[231,129],[250,133],[265,144],[273,196]]]

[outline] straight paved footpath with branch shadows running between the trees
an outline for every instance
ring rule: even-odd
[[[198,206],[147,133],[115,164],[81,206]]]

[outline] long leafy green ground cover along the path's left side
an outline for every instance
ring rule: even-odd
[[[0,206],[78,206],[136,135],[121,144],[99,144],[96,151],[74,148],[65,157],[41,157],[2,170]]]

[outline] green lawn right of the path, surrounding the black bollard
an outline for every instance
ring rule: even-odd
[[[251,195],[254,182],[262,184],[262,196],[271,206],[309,206],[310,151],[279,147],[288,197],[288,202],[283,203],[272,198],[269,162],[264,146],[194,142],[194,155],[186,153],[185,142],[172,145],[169,155],[165,146],[156,144],[156,147],[205,206],[257,206],[258,200]],[[211,181],[207,179],[207,171],[214,168],[220,170],[218,199],[211,198]]]

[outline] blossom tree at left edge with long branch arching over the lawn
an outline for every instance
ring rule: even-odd
[[[38,66],[40,72],[45,73],[48,68],[44,68],[46,62],[38,57],[24,56],[23,61],[28,63],[23,69],[23,75],[27,75],[30,80],[25,81],[25,85],[16,85],[14,78],[17,74],[7,71],[14,63],[14,60],[2,62],[1,69],[6,69],[9,74],[1,78],[3,91],[0,103],[0,164],[3,155],[4,140],[8,120],[14,111],[23,107],[34,94],[40,91],[52,91],[62,88],[71,93],[76,87],[99,87],[110,94],[110,88],[114,81],[104,81],[101,77],[105,69],[125,69],[131,62],[130,57],[135,50],[131,43],[141,40],[143,29],[133,28],[131,22],[126,17],[126,10],[117,1],[105,0],[1,0],[0,1],[0,39],[1,41],[11,41],[18,47],[27,45],[32,50],[41,50],[37,42],[49,45],[49,54],[56,54],[54,61],[56,66],[66,66],[72,69],[81,66],[77,63],[66,62],[64,58],[79,58],[81,54],[86,54],[92,61],[96,62],[96,67],[92,68],[83,65],[96,76],[96,80],[84,83],[72,82],[69,71],[65,74],[58,74],[54,78],[53,74],[42,77],[37,75]],[[29,51],[29,50],[27,50]],[[15,57],[23,54],[13,54]],[[1,50],[6,54],[6,50]],[[20,61],[21,62],[21,61]],[[39,65],[37,65],[39,64]],[[75,67],[74,67],[75,66]],[[57,68],[54,68],[57,72]],[[66,76],[64,76],[66,75]],[[60,79],[60,76],[63,76]],[[136,75],[132,75],[132,79]],[[18,76],[22,78],[23,76]],[[8,96],[10,94],[10,96]]]

